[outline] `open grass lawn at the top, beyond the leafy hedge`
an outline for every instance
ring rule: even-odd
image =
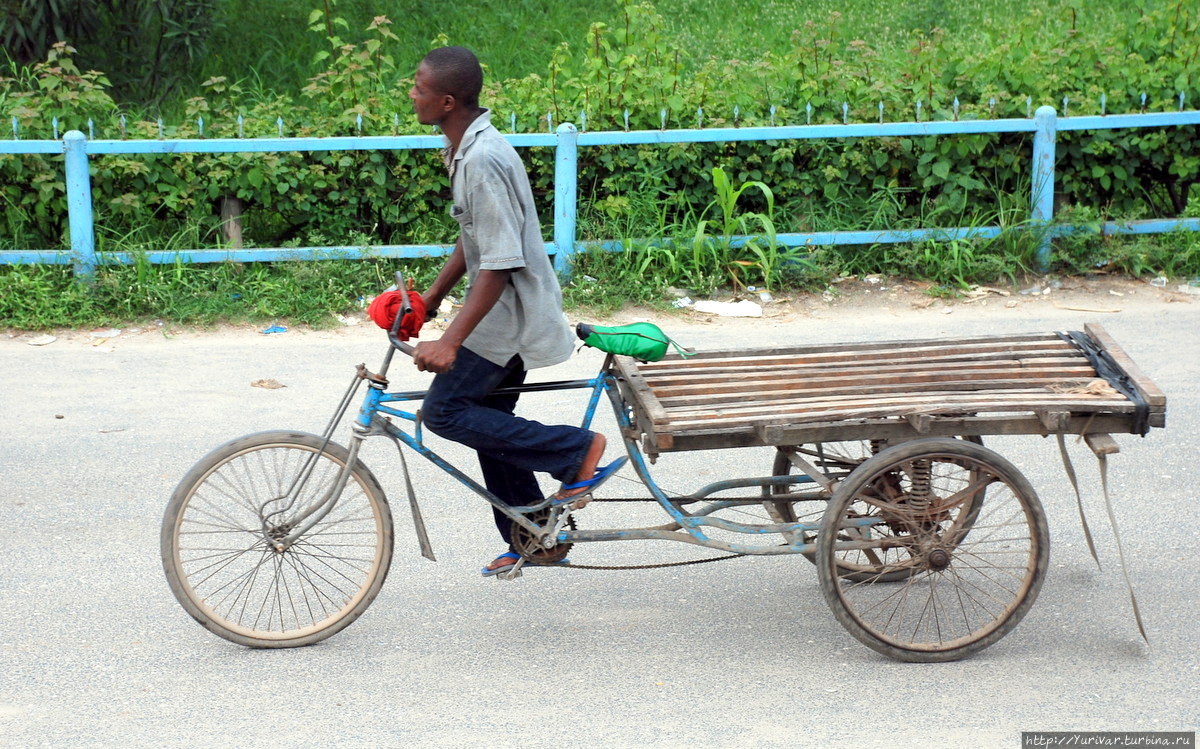
[[[1043,8],[1055,18],[1074,19],[1080,31],[1124,23],[1126,0],[1093,0],[1086,13],[1075,16],[1078,4],[1064,0],[1036,2],[1009,0],[908,0],[888,5],[880,12],[876,0],[655,0],[654,7],[666,19],[667,36],[680,49],[691,50],[696,61],[710,55],[749,59],[764,50],[782,50],[791,44],[792,31],[805,23],[828,24],[832,13],[841,13],[840,32],[872,44],[899,42],[913,29],[946,29],[970,36],[983,24]],[[323,7],[320,0],[252,0],[220,2],[220,26],[210,40],[220,55],[210,55],[193,76],[198,84],[211,76],[230,79],[258,79],[280,92],[299,91],[318,72],[314,55],[326,48],[320,35],[307,29],[308,13]],[[1121,16],[1121,14],[1124,16]],[[545,76],[551,52],[560,43],[584,43],[593,22],[620,23],[616,0],[504,0],[443,4],[437,10],[415,10],[406,0],[337,0],[334,14],[343,17],[356,38],[376,16],[388,16],[400,37],[394,54],[402,71],[410,71],[444,35],[452,44],[470,47],[496,80]],[[754,23],[746,23],[754,19]],[[506,30],[497,34],[497,29]],[[198,86],[192,86],[196,89]]]

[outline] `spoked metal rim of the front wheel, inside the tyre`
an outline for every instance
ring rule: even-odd
[[[311,473],[295,501],[278,499],[306,465]],[[256,445],[193,485],[175,521],[174,561],[185,595],[205,618],[256,640],[293,640],[359,605],[386,551],[383,513],[359,475],[350,474],[332,511],[290,547],[278,552],[268,540],[298,525],[342,466],[308,445]]]

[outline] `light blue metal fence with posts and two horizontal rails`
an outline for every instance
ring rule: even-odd
[[[1182,109],[1182,107],[1181,107]],[[578,132],[574,125],[559,125],[553,133],[529,133],[505,136],[516,148],[548,146],[556,150],[554,160],[554,210],[553,241],[546,242],[546,251],[554,256],[556,268],[566,274],[571,256],[582,245],[576,235],[576,206],[578,149],[594,145],[719,143],[740,140],[788,140],[878,138],[896,136],[950,136],[964,133],[1027,132],[1033,136],[1033,163],[1030,196],[1033,229],[1039,232],[1038,263],[1044,270],[1049,264],[1050,242],[1055,236],[1085,230],[1082,227],[1054,223],[1055,140],[1060,131],[1072,130],[1120,130],[1140,127],[1172,127],[1200,124],[1200,112],[1172,112],[1148,114],[1116,114],[1099,116],[1058,118],[1052,107],[1042,107],[1031,119],[1002,120],[954,120],[878,122],[844,125],[802,125],[780,127],[734,127],[710,130],[660,130]],[[100,263],[131,263],[130,253],[104,253],[97,257],[95,228],[91,210],[89,157],[109,154],[229,154],[229,152],[304,152],[304,151],[361,151],[437,149],[443,140],[438,136],[360,136],[336,138],[232,138],[232,139],[160,139],[160,140],[104,140],[88,139],[79,131],[71,131],[61,140],[0,140],[0,154],[64,154],[66,156],[66,188],[71,250],[0,251],[0,264],[53,263],[73,264],[78,277],[90,278]],[[1104,234],[1156,234],[1174,230],[1200,230],[1200,217],[1146,220],[1132,222],[1105,222],[1099,227]],[[914,242],[925,240],[952,240],[967,238],[991,238],[1002,232],[1001,227],[970,228],[920,228],[902,230],[846,230],[810,232],[778,235],[785,246],[817,245],[871,245],[889,242]],[[745,238],[734,238],[744,241]],[[601,247],[619,248],[619,242],[595,242]],[[301,260],[329,257],[436,257],[446,254],[452,247],[444,245],[383,245],[373,247],[270,247],[242,250],[184,250],[149,252],[151,263],[214,263],[222,260],[263,262]]]

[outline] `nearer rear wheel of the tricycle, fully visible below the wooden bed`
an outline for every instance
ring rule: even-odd
[[[964,441],[919,439],[865,461],[838,487],[817,535],[817,575],[834,616],[868,647],[956,660],[1021,621],[1049,543],[1042,504],[1010,462]],[[841,573],[864,558],[911,571],[899,582]]]

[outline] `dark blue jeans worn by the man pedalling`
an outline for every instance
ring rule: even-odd
[[[521,356],[497,366],[460,348],[449,372],[433,378],[421,412],[425,426],[446,439],[473,448],[479,455],[487,490],[509,505],[542,499],[534,472],[559,481],[575,480],[593,433],[577,426],[547,426],[514,415],[517,394],[496,390],[524,383]],[[512,544],[512,521],[493,509],[504,543]]]

